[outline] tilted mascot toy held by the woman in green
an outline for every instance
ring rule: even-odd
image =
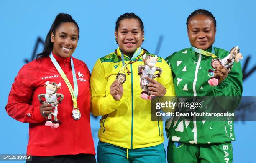
[[[208,72],[210,72],[208,74],[209,77],[211,77],[210,80],[208,80],[208,83],[210,84],[210,86],[217,86],[219,84],[219,79],[220,77],[218,77],[216,74],[214,74],[214,71],[217,69],[217,67],[219,67],[220,65],[226,67],[228,69],[228,73],[231,72],[231,68],[233,67],[233,63],[236,62],[238,63],[240,60],[243,59],[243,55],[241,53],[239,53],[240,49],[238,48],[238,46],[233,47],[229,54],[223,58],[223,59],[212,59],[211,62],[211,66],[213,68],[209,69]]]

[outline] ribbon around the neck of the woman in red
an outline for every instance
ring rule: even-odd
[[[73,75],[73,82],[74,82],[74,90],[72,88],[71,83],[69,82],[69,79],[67,78],[66,74],[63,72],[61,67],[59,66],[59,63],[56,61],[52,53],[50,54],[51,62],[54,64],[55,68],[58,70],[59,74],[67,84],[67,87],[69,88],[72,100],[73,100],[73,106],[75,109],[77,109],[77,95],[78,95],[78,86],[77,86],[77,77],[76,77],[76,72],[74,70],[74,63],[72,57],[71,59],[71,69],[72,69],[72,75]]]

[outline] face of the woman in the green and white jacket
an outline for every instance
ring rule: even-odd
[[[187,34],[193,47],[206,50],[215,41],[216,28],[211,17],[195,15],[188,22]]]

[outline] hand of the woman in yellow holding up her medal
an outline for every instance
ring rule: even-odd
[[[115,80],[110,86],[110,94],[115,99],[115,101],[119,101],[123,96],[123,85],[120,81]]]

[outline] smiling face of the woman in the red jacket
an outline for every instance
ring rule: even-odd
[[[55,35],[51,34],[52,52],[62,58],[70,57],[77,47],[78,35],[79,32],[74,23],[62,23],[56,30]]]

